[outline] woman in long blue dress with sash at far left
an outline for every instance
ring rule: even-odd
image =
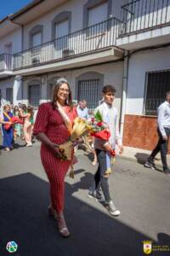
[[[7,151],[13,149],[14,143],[14,128],[11,125],[11,118],[13,117],[13,113],[11,113],[11,108],[9,105],[5,105],[3,107],[3,114],[1,117],[1,124],[3,130],[3,148]],[[8,130],[5,129],[5,125],[10,125]]]

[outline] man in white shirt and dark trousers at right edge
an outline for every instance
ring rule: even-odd
[[[157,132],[159,136],[156,148],[150,154],[150,157],[145,162],[144,166],[155,169],[154,159],[156,154],[161,152],[161,162],[163,165],[163,172],[170,176],[170,170],[167,167],[167,146],[170,135],[170,91],[166,93],[166,101],[161,103],[157,109]]]

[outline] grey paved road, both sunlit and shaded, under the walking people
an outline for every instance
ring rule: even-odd
[[[170,177],[139,163],[117,159],[110,177],[111,195],[122,214],[111,218],[88,198],[95,167],[77,151],[76,177],[65,181],[65,217],[71,231],[61,238],[48,218],[48,180],[39,143],[0,154],[0,256],[10,255],[8,241],[19,245],[15,256],[144,255],[143,241],[170,246]],[[154,252],[152,255],[168,255]]]

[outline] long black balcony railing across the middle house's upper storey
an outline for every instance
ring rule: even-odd
[[[14,55],[14,70],[83,55],[116,45],[120,21],[112,18]]]

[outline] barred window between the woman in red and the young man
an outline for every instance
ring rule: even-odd
[[[78,81],[77,100],[86,100],[88,102],[88,109],[92,110],[99,105],[100,96],[100,80],[80,80]]]

